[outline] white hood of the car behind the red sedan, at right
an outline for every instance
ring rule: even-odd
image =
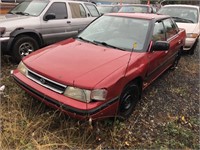
[[[186,33],[200,33],[200,24],[196,23],[177,23],[179,28],[185,29]]]

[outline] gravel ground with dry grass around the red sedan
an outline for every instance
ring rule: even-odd
[[[49,149],[66,149],[69,148],[70,144],[72,148],[76,149],[200,149],[199,51],[198,45],[194,55],[183,54],[177,69],[168,70],[145,89],[141,101],[128,120],[124,122],[116,120],[114,123],[108,120],[100,121],[95,123],[89,131],[85,126],[73,124],[74,121],[63,121],[64,119],[60,115],[51,118],[49,115],[51,113],[46,113],[49,109],[38,111],[41,104],[35,103],[34,99],[13,83],[10,70],[16,68],[16,65],[10,63],[8,57],[1,56],[1,85],[6,86],[5,93],[3,96],[1,94],[2,113],[0,119],[4,120],[2,121],[3,125],[1,125],[4,126],[4,129],[1,130],[4,135],[1,137],[4,146],[1,146],[1,149],[20,149],[20,146],[23,149],[38,149],[39,144],[43,144],[41,141],[45,141],[44,137],[53,138],[46,142]],[[30,104],[31,106],[29,106]],[[22,117],[12,116],[13,113],[10,111],[21,114]],[[48,128],[46,123],[42,127],[41,122],[45,121],[43,116],[51,118]],[[13,124],[13,119],[15,119],[14,123],[16,124]],[[35,120],[35,124],[33,120]],[[24,125],[24,122],[24,126],[18,124],[22,121],[27,126]],[[35,131],[34,135],[38,134],[40,138],[43,137],[42,140],[38,141],[34,137],[29,138],[29,132],[32,131],[30,125],[34,128],[40,125],[40,130],[38,133]],[[51,126],[54,127],[51,128]],[[16,129],[13,130],[13,127]],[[66,130],[72,132],[72,129],[74,135],[69,136]],[[82,133],[85,133],[84,139]],[[5,138],[6,136],[9,138]],[[63,147],[59,147],[56,145],[55,141],[58,139],[61,143],[68,142],[66,144],[68,146],[60,144]],[[82,140],[81,146],[77,142],[80,139]]]

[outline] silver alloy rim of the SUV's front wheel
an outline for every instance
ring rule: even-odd
[[[26,42],[20,45],[19,54],[21,57],[27,56],[34,51],[33,45]]]

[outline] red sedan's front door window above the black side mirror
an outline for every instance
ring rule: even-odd
[[[153,30],[152,41],[165,41],[165,30],[162,22],[156,22]]]

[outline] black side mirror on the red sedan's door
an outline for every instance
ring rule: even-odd
[[[151,46],[151,51],[167,51],[170,44],[166,41],[155,41]]]

